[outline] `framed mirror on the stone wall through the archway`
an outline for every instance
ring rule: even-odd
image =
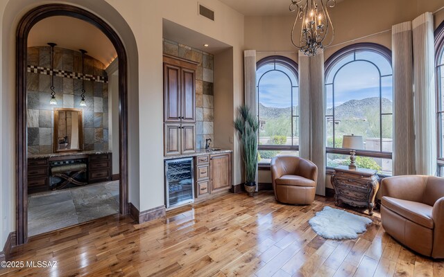
[[[54,152],[82,151],[83,118],[81,109],[54,109]]]

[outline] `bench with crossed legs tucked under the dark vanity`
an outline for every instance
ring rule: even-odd
[[[78,181],[75,179],[76,177],[78,177],[78,175],[84,172],[87,172],[86,163],[69,163],[62,166],[51,167],[52,177],[59,177],[65,180],[60,182],[60,184],[57,184],[56,186],[54,186],[54,188],[51,189],[58,190],[60,188],[64,188],[65,186],[67,186],[67,184],[74,184],[76,186],[85,186],[87,184],[86,182]]]

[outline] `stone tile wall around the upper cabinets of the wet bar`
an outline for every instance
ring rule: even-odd
[[[199,63],[196,71],[196,148],[205,148],[205,139],[214,141],[213,55],[168,39],[164,39],[163,44],[165,54]]]

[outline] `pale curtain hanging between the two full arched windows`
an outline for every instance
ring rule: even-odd
[[[325,195],[325,80],[324,53],[314,57],[299,52],[299,156],[318,167],[316,194]]]

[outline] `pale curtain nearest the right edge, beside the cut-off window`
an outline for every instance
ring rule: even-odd
[[[436,83],[432,13],[426,12],[413,19],[412,27],[416,174],[436,175]]]

